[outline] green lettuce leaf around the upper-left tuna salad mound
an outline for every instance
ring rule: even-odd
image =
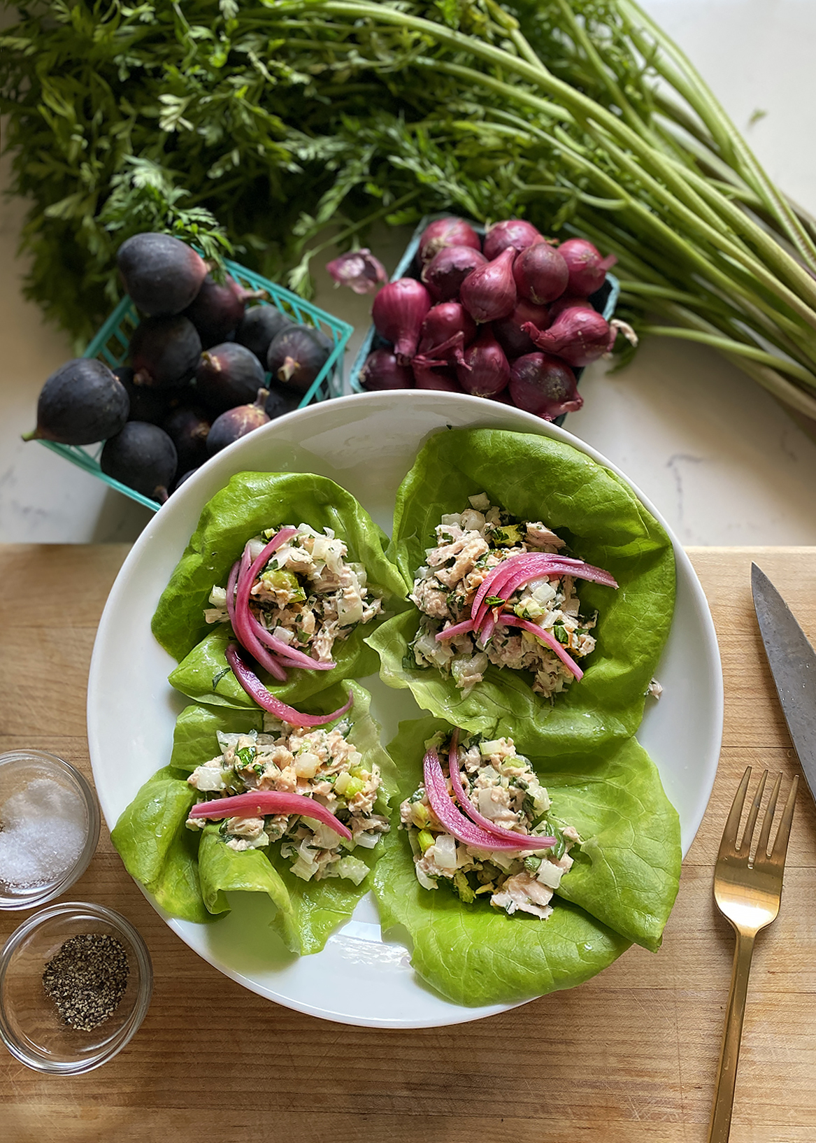
[[[347,559],[366,567],[368,585],[383,598],[384,608],[405,606],[401,577],[384,554],[387,537],[350,493],[326,477],[310,473],[239,473],[205,505],[152,622],[155,638],[179,662],[170,674],[171,685],[195,702],[255,706],[224,657],[232,639],[230,625],[208,624],[203,612],[213,586],[226,584],[247,539],[282,523],[331,528],[347,546]],[[370,674],[377,660],[363,637],[382,618],[358,624],[347,639],[337,639],[333,671],[290,669],[285,684],[261,671],[261,679],[282,702],[297,705],[337,679]]]

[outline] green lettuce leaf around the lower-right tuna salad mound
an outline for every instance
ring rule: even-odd
[[[424,889],[414,871],[399,802],[423,781],[425,742],[449,727],[433,718],[401,722],[389,753],[399,770],[386,853],[374,874],[384,935],[407,936],[411,965],[461,1005],[512,1004],[573,988],[632,942],[659,946],[680,878],[680,825],[657,769],[634,741],[591,757],[530,758],[552,799],[552,815],[574,825],[582,845],[561,879],[546,920],[464,904],[445,884]],[[522,749],[519,746],[519,749]]]

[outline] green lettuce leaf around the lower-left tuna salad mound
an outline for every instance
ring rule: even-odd
[[[342,682],[304,703],[304,709],[309,713],[336,710],[349,689],[354,705],[344,716],[351,724],[347,737],[362,754],[363,765],[379,766],[378,808],[387,813],[395,770],[379,745],[379,728],[369,714],[368,693],[355,682]],[[342,878],[304,881],[290,871],[274,844],[235,852],[221,839],[217,824],[201,832],[184,824],[198,794],[187,785],[187,775],[221,753],[217,733],[262,728],[263,712],[257,708],[243,711],[187,706],[176,722],[170,765],[141,788],[111,838],[128,872],[169,913],[185,920],[213,920],[229,912],[229,893],[265,893],[274,906],[270,925],[287,949],[302,954],[319,952],[329,934],[349,920],[370,888],[370,877],[360,885]],[[352,853],[370,869],[383,848],[381,840],[373,849],[357,847]]]

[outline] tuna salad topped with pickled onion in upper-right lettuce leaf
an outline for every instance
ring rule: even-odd
[[[608,573],[566,557],[563,539],[545,523],[515,520],[485,494],[443,515],[435,535],[409,597],[422,613],[410,648],[417,666],[451,676],[464,694],[489,663],[529,671],[533,690],[545,697],[582,677],[575,661],[594,650],[598,613],[581,614],[575,581],[616,586]]]

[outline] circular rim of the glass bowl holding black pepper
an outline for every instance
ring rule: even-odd
[[[138,967],[138,991],[130,1015],[104,1049],[99,1050],[96,1055],[88,1055],[83,1060],[74,1060],[70,1062],[48,1058],[29,1050],[27,1047],[21,1044],[18,1037],[11,1031],[7,1018],[5,1001],[6,976],[9,965],[11,964],[13,954],[17,951],[23,941],[38,928],[41,928],[46,922],[58,917],[75,917],[79,920],[80,917],[88,916],[110,925],[111,928],[118,930],[129,941],[130,948],[134,951],[136,965]],[[57,904],[49,905],[47,909],[41,909],[39,912],[34,913],[32,917],[27,917],[21,925],[18,925],[14,933],[9,936],[8,941],[6,941],[2,949],[0,949],[0,1040],[2,1040],[15,1060],[18,1060],[21,1063],[25,1064],[26,1068],[31,1068],[33,1071],[46,1072],[53,1076],[77,1076],[82,1072],[93,1071],[95,1068],[99,1068],[109,1060],[112,1060],[113,1056],[115,1056],[127,1044],[130,1042],[141,1028],[144,1017],[147,1015],[152,994],[153,962],[144,937],[138,929],[135,928],[129,920],[127,920],[127,918],[122,917],[121,913],[115,912],[113,909],[107,909],[106,905],[98,905],[89,901],[62,901]]]

